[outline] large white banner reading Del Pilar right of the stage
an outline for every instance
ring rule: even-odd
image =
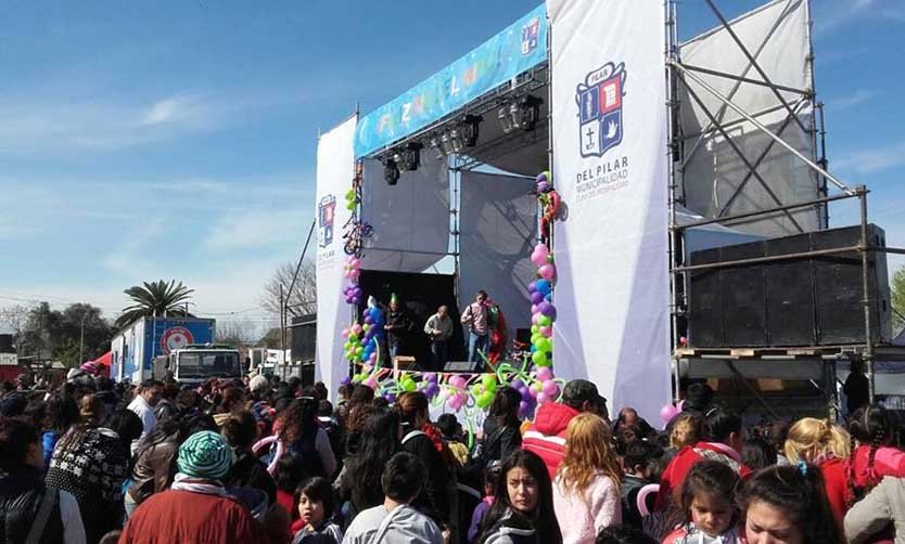
[[[548,0],[557,223],[553,368],[653,424],[670,400],[662,2]]]

